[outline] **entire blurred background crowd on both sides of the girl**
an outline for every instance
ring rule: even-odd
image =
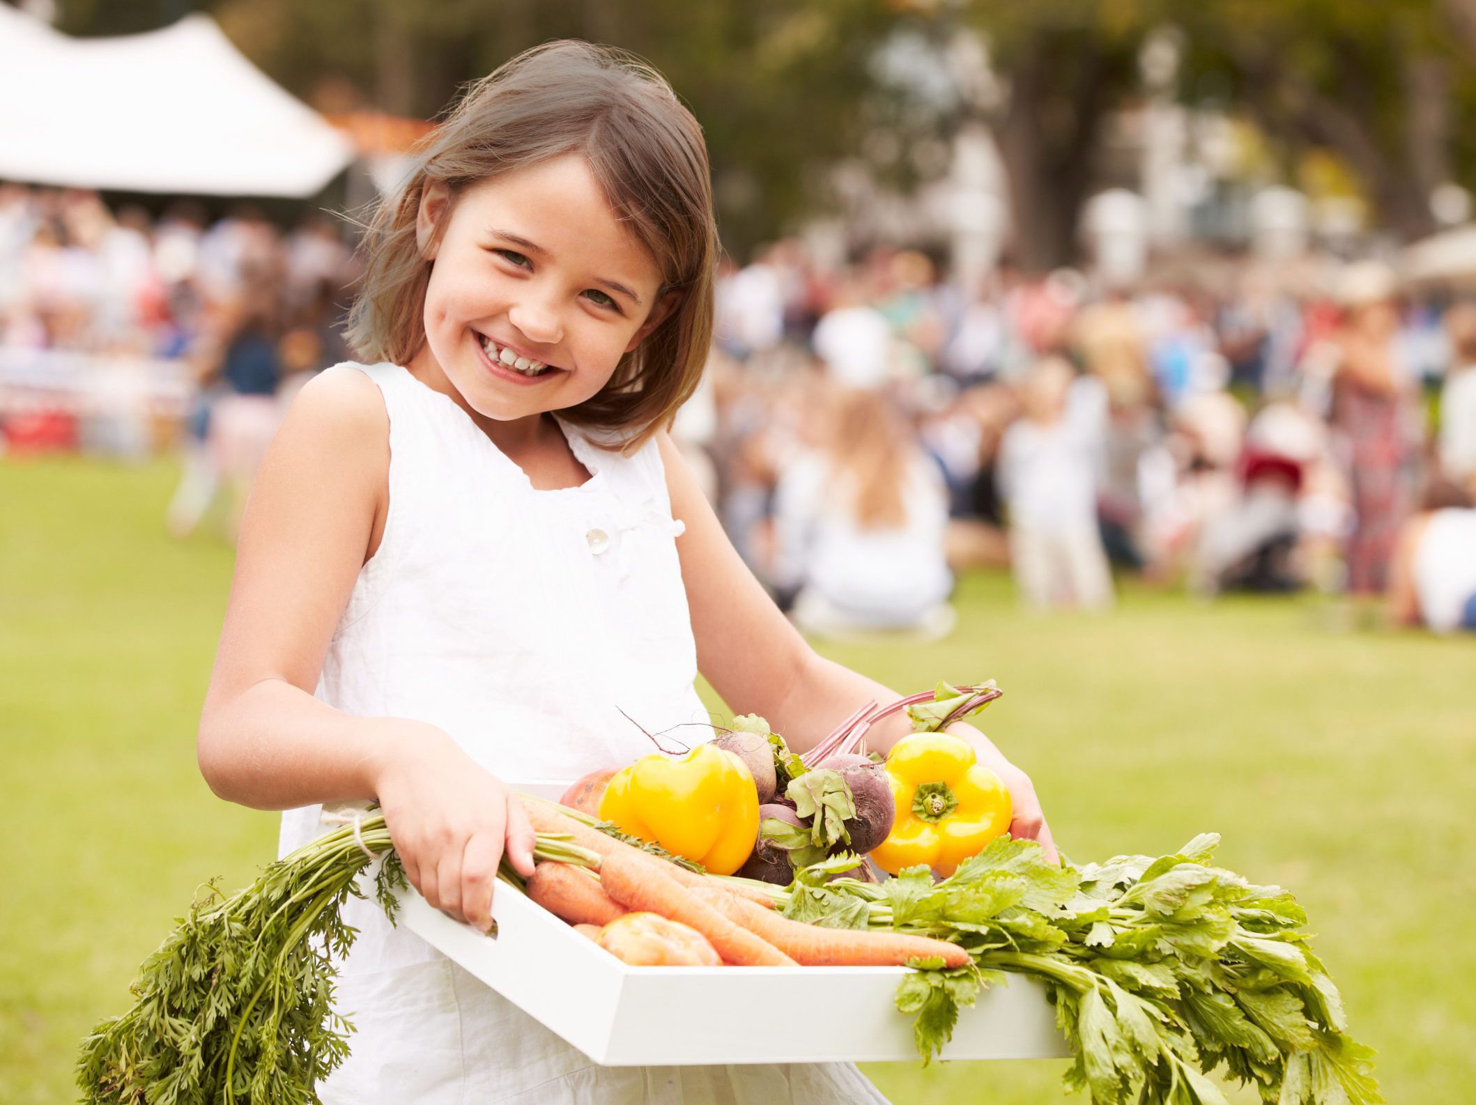
[[[350,230],[0,184],[0,375],[184,366],[167,524],[215,506],[233,528],[291,394],[353,356]],[[28,426],[0,409],[12,447]],[[827,266],[787,239],[726,263],[673,437],[816,633],[946,633],[974,565],[1042,609],[1107,608],[1131,572],[1476,626],[1476,305],[1374,261],[1207,260],[1134,288],[1004,263],[965,288],[924,252]]]

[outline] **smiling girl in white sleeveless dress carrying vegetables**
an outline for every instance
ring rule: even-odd
[[[322,803],[376,798],[415,887],[487,928],[503,851],[533,869],[505,780],[649,751],[620,711],[706,721],[701,668],[803,748],[893,692],[810,652],[661,432],[707,353],[717,245],[701,133],[658,75],[580,43],[509,62],[368,251],[350,336],[376,363],[307,384],[258,474],[201,770],[288,810],[283,850]],[[1048,842],[1024,775],[961,732]],[[325,1102],[880,1101],[846,1065],[592,1065],[372,903],[348,913],[356,1033]]]

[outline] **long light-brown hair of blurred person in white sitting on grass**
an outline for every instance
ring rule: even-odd
[[[831,471],[849,478],[862,530],[892,530],[908,516],[906,484],[914,447],[900,418],[874,391],[843,391],[831,423]]]

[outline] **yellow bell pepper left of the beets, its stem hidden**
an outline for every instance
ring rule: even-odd
[[[698,745],[680,760],[651,752],[610,780],[599,816],[621,832],[732,875],[759,838],[759,791],[732,752]]]

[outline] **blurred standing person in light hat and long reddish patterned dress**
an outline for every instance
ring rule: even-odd
[[[1393,273],[1377,261],[1349,266],[1340,280],[1331,418],[1353,505],[1348,590],[1382,595],[1399,527],[1410,513],[1415,460],[1414,379],[1399,347]]]

